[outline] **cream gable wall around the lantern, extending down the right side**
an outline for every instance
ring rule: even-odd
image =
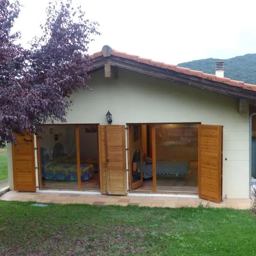
[[[223,196],[248,198],[249,114],[237,113],[236,99],[119,69],[118,79],[98,71],[87,81],[93,91],[74,93],[67,123],[113,124],[201,122],[224,125]],[[227,158],[227,160],[225,160]]]

